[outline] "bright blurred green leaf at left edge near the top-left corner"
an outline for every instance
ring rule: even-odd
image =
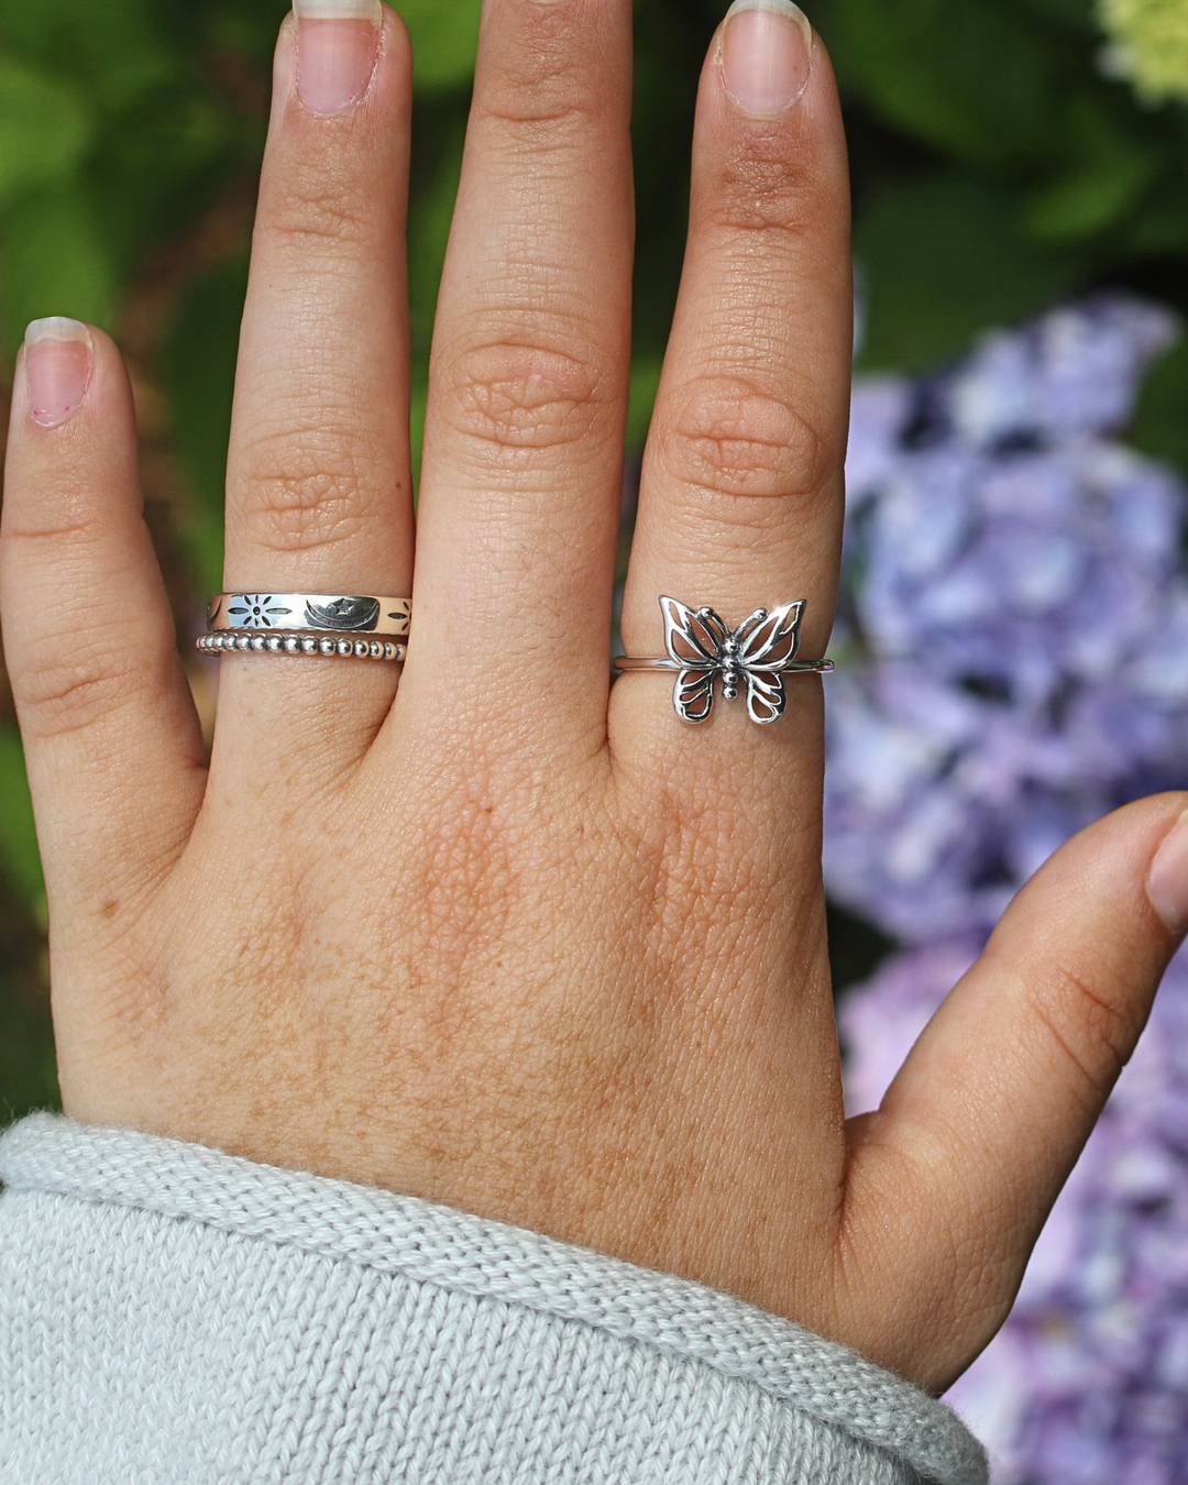
[[[67,175],[91,119],[76,92],[0,55],[0,203]]]

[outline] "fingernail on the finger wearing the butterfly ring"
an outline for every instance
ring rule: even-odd
[[[722,82],[740,108],[766,117],[800,97],[812,67],[812,27],[792,0],[735,0],[722,34]]]

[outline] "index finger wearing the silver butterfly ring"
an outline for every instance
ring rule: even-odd
[[[661,594],[708,604],[731,628],[757,607],[803,598],[802,655],[823,652],[841,548],[848,226],[824,50],[787,0],[742,0],[701,85],[689,247],[624,600],[628,653],[664,653]],[[695,742],[719,780],[731,760],[744,760],[751,780],[765,774],[756,748],[778,760],[784,784],[765,784],[777,805],[792,786],[789,748],[806,765],[799,784],[820,771],[820,688],[794,676],[784,685],[793,696],[777,726],[753,728],[719,692]],[[612,742],[616,753],[633,742],[658,750],[664,777],[673,750],[689,766],[671,677],[628,676],[615,688]]]

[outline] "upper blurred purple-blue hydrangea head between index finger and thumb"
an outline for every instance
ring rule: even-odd
[[[1081,826],[1188,784],[1185,492],[1117,437],[1173,334],[1111,296],[855,389],[826,881],[901,939],[989,928]]]

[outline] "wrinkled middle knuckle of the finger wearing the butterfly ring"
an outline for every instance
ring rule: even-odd
[[[679,483],[717,495],[811,499],[841,454],[787,398],[710,376],[677,394],[661,459]]]

